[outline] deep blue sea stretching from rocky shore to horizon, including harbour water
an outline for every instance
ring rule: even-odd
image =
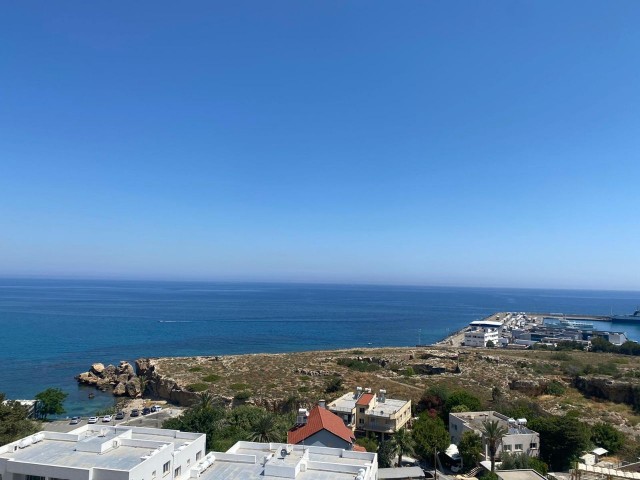
[[[433,343],[497,311],[632,312],[640,292],[0,279],[0,392],[69,393],[68,414],[111,405],[80,387],[91,363],[144,356]],[[640,326],[601,324],[640,339]]]

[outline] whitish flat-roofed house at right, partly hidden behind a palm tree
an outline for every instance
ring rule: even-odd
[[[524,453],[530,457],[537,457],[540,453],[540,435],[527,428],[527,421],[524,418],[514,419],[498,412],[463,412],[449,414],[449,435],[451,443],[458,445],[464,432],[474,432],[480,437],[482,435],[482,423],[484,421],[498,421],[507,429],[507,434],[502,437],[502,442],[498,445],[496,456],[500,457],[502,452]],[[485,448],[485,458],[489,458],[489,446],[483,437]]]

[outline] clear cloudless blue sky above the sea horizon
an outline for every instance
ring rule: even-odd
[[[0,275],[640,290],[640,2],[0,6]]]

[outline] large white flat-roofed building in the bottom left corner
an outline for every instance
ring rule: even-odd
[[[205,454],[201,433],[83,425],[0,447],[2,480],[177,480]]]

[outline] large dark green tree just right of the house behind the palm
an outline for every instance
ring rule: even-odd
[[[591,444],[589,426],[572,413],[534,418],[529,428],[540,434],[540,457],[554,471],[568,469]]]

